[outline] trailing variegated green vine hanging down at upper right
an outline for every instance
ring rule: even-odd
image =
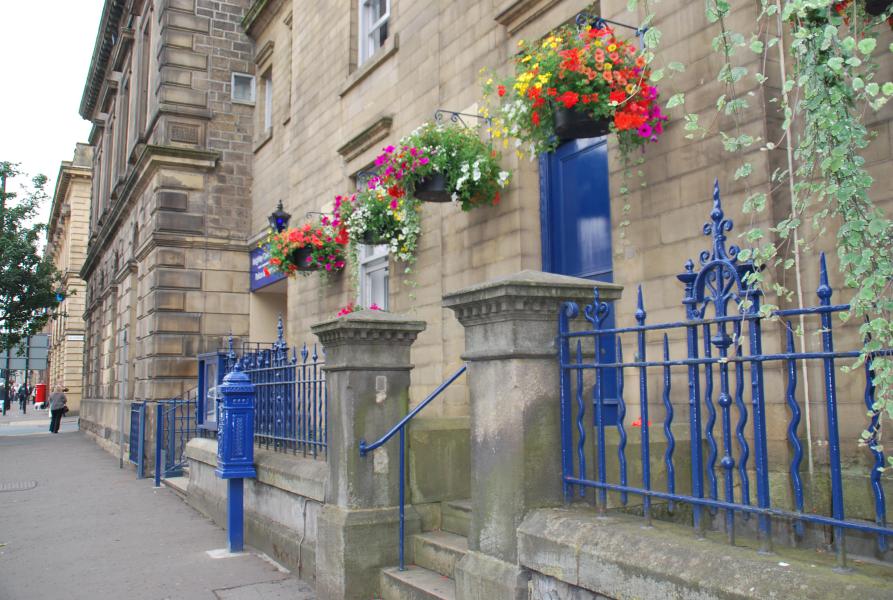
[[[868,14],[867,0],[761,0],[753,29],[737,32],[728,27],[731,4],[706,0],[706,17],[717,31],[713,49],[723,59],[716,75],[722,93],[709,123],[689,113],[684,129],[689,139],[718,134],[725,151],[742,157],[734,177],[745,187],[743,208],[751,215],[751,227],[743,234],[749,247],[740,257],[770,270],[794,270],[794,289],[784,285],[784,278],[771,282],[763,269],[749,276],[753,285],[785,300],[796,296],[803,306],[800,256],[811,239],[836,228],[840,269],[853,290],[851,310],[843,317],[861,323],[863,339],[859,359],[848,368],[867,363],[874,372],[875,404],[862,441],[882,450],[881,425],[893,419],[893,360],[880,353],[893,347],[893,221],[870,199],[873,180],[862,155],[872,138],[866,115],[893,96],[893,82],[877,77],[884,52],[878,47],[879,28],[893,23],[893,7],[878,9],[877,2],[870,2],[872,12],[881,14]],[[630,0],[629,8],[644,8],[650,24],[648,2]],[[649,29],[653,40],[660,39],[656,31],[653,25]],[[754,64],[759,66],[754,69]],[[681,70],[674,63],[667,72]],[[664,69],[654,69],[652,78],[663,76]],[[776,139],[754,136],[742,125],[749,103],[759,97],[742,92],[754,87],[748,78],[758,83],[767,106],[778,107]],[[684,105],[683,93],[667,103],[668,108]],[[751,181],[748,156],[776,149],[785,151],[786,166],[775,169],[768,185]],[[787,215],[771,228],[756,227],[770,196],[789,197]],[[769,302],[761,306],[767,317],[777,308]],[[802,324],[797,333],[802,343]]]

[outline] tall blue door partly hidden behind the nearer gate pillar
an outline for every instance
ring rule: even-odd
[[[611,196],[606,138],[573,140],[540,158],[543,270],[613,281]],[[614,312],[604,328],[614,327]],[[614,362],[614,336],[602,336],[601,359]],[[605,424],[617,421],[617,375],[603,371]],[[593,414],[595,411],[593,411]]]

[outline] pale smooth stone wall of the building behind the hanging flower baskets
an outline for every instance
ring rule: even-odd
[[[591,3],[391,0],[388,39],[359,66],[356,5],[317,3],[302,7],[300,18],[295,11],[293,18],[293,3],[258,0],[243,22],[254,40],[258,68],[272,73],[275,82],[273,130],[269,135],[255,136],[250,229],[254,239],[261,239],[275,201],[285,201],[286,209],[294,215],[293,224],[303,221],[308,212],[325,212],[336,194],[354,188],[354,177],[368,168],[382,146],[430,120],[436,109],[475,112],[481,100],[480,68],[506,73],[518,40],[543,36]],[[707,22],[703,6],[697,3],[661,3],[655,9],[663,32],[660,60],[687,65],[685,73],[664,80],[666,97],[685,92],[686,110],[702,113],[702,121],[706,121],[722,93],[715,81],[718,63],[710,44],[716,28]],[[621,0],[604,0],[595,5],[595,10],[630,23],[642,16],[627,12]],[[749,30],[748,24],[758,11],[750,5],[736,6],[729,27]],[[890,38],[890,32],[884,30],[879,46],[886,48]],[[755,61],[759,57],[747,58],[752,62],[750,66],[758,66]],[[891,60],[889,54],[884,55],[881,69],[889,71]],[[773,89],[759,88],[752,78],[748,82],[750,87],[741,91],[753,92],[754,96],[742,126],[764,140],[780,138],[778,115],[770,102]],[[869,117],[870,129],[877,137],[866,155],[869,171],[875,177],[873,197],[888,209],[893,200],[891,116],[893,108],[887,106]],[[710,244],[701,235],[700,224],[710,209],[715,178],[723,191],[727,216],[738,224],[735,233],[751,224],[750,217],[743,216],[740,209],[746,192],[772,191],[771,210],[753,225],[771,226],[789,205],[784,191],[771,185],[772,172],[784,167],[786,161],[783,146],[768,152],[755,147],[746,157],[753,163],[754,172],[745,189],[743,182],[733,177],[742,157],[723,151],[717,128],[703,139],[688,140],[683,124],[681,113],[675,111],[661,141],[647,149],[642,165],[647,186],[628,197],[627,215],[623,210],[627,200],[619,194],[622,173],[616,143],[609,137],[614,282],[627,289],[642,284],[650,323],[684,318],[683,288],[676,275],[687,258],[696,258]],[[539,165],[506,154],[503,166],[513,172],[513,183],[499,206],[463,213],[452,205],[425,204],[414,272],[406,275],[398,263],[390,265],[389,309],[413,314],[428,323],[412,350],[412,404],[420,402],[461,362],[462,330],[456,319],[444,312],[440,298],[468,285],[543,267]],[[624,220],[630,224],[621,235]],[[836,272],[833,236],[809,235],[812,246],[800,268],[804,302],[817,302],[814,291],[820,250],[829,253],[832,284],[838,290],[835,301],[846,301],[842,277]],[[793,285],[791,271],[773,272],[770,277],[784,278]],[[346,273],[324,286],[316,277],[299,277],[288,282],[287,302],[283,297],[277,306],[288,306],[288,337],[300,344],[312,340],[309,330],[313,323],[331,317],[356,299],[355,287]],[[619,325],[634,324],[635,299],[634,293],[627,293],[618,302]],[[769,301],[786,305],[776,298]],[[258,321],[270,321],[273,311],[265,310],[268,316]],[[846,329],[837,338],[838,346],[858,346],[853,327]],[[818,336],[807,337],[806,347],[816,350],[821,343]],[[767,333],[767,350],[779,349],[782,343],[781,327]],[[649,340],[652,355],[660,352],[659,344],[657,337]],[[674,355],[685,353],[681,333],[674,333],[671,344]],[[827,436],[821,369],[810,366],[808,378],[815,452],[821,454]],[[634,380],[628,383],[629,389],[635,388]],[[682,379],[679,383],[684,385]],[[781,393],[783,374],[769,370],[766,386],[772,437],[782,444],[786,419],[781,416],[787,410]],[[853,391],[847,394],[845,404],[861,402],[861,395],[855,388]],[[459,382],[426,411],[427,416],[467,415],[467,398],[467,389]],[[659,404],[658,398],[653,401]],[[855,439],[864,426],[863,411],[857,406],[843,410],[852,418],[845,417],[841,435]],[[628,415],[630,419],[636,416]]]

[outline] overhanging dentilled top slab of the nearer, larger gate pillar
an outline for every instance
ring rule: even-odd
[[[443,306],[454,311],[465,327],[505,321],[555,320],[562,302],[588,304],[596,287],[603,301],[616,300],[623,291],[623,286],[614,283],[521,271],[446,294]]]

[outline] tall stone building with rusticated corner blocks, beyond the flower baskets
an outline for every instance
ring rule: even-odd
[[[248,333],[246,6],[102,11],[80,105],[93,123],[81,424],[108,444],[129,402],[186,392],[198,352]]]

